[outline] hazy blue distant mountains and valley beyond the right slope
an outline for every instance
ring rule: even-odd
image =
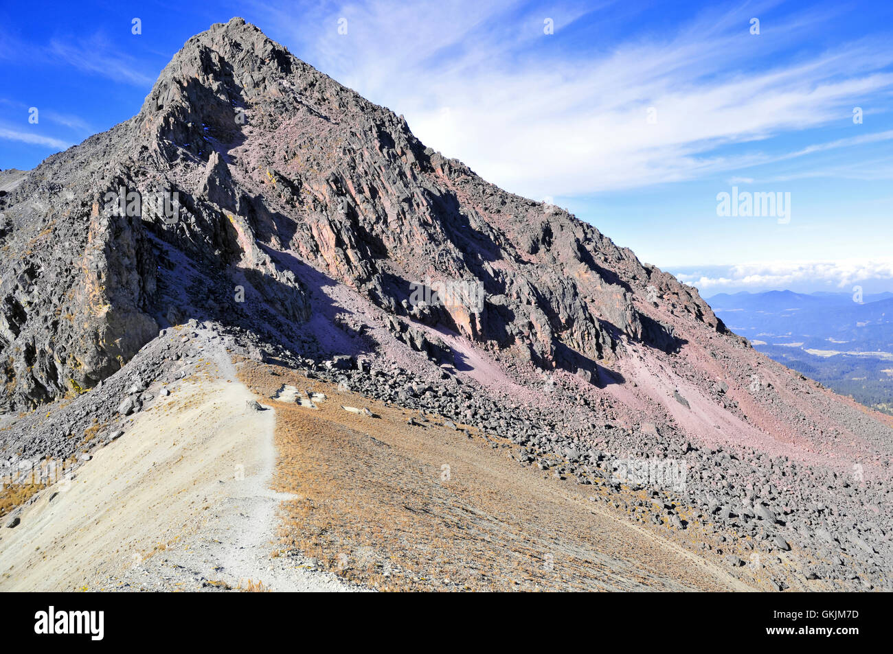
[[[893,413],[893,293],[718,294],[716,315],[755,349],[838,393]]]

